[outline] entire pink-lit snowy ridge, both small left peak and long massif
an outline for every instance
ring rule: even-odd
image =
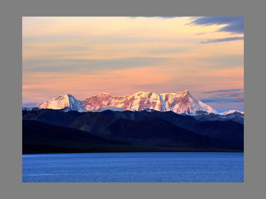
[[[173,111],[181,114],[196,114],[197,111],[219,114],[212,107],[194,99],[188,90],[177,93],[156,94],[152,92],[138,92],[132,96],[117,97],[108,93],[99,93],[95,96],[77,100],[71,94],[61,95],[39,104],[44,109],[63,109],[70,107],[74,110],[97,110],[115,106],[123,110],[141,111],[154,109],[157,111]]]

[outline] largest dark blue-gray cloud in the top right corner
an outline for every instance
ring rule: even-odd
[[[244,17],[201,17],[186,25],[223,25],[217,32],[231,32],[244,34]]]

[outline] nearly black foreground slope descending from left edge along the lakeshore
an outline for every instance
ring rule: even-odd
[[[193,149],[131,145],[104,139],[78,129],[55,126],[36,120],[22,121],[22,153],[98,153],[98,152],[241,152],[231,149]]]

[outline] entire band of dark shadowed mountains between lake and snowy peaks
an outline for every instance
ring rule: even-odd
[[[172,111],[23,110],[22,120],[23,153],[243,152],[243,124]]]

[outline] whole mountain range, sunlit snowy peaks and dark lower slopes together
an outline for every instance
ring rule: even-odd
[[[24,154],[244,150],[244,112],[218,113],[188,91],[66,94],[22,108],[22,120]]]

